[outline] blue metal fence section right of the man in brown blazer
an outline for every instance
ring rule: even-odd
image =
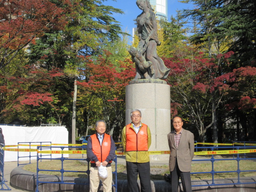
[[[212,147],[195,147],[196,151],[199,149],[209,149],[211,151],[213,150],[242,150],[242,149],[252,149],[252,146],[222,146],[222,147],[216,147],[216,146],[212,146]],[[195,161],[209,161],[212,163],[212,170],[208,171],[208,172],[191,172],[191,174],[211,174],[212,175],[212,183],[211,184],[203,184],[203,185],[192,185],[192,186],[216,186],[216,185],[235,185],[235,184],[256,184],[256,181],[254,182],[242,182],[240,179],[240,173],[241,172],[256,172],[256,170],[240,170],[240,160],[256,160],[256,154],[254,153],[254,155],[250,155],[248,156],[248,154],[233,154],[232,156],[230,156],[230,158],[214,158],[214,154],[210,155],[211,158],[209,159],[198,159],[198,160],[192,160],[192,162]],[[235,160],[237,161],[237,170],[234,171],[215,171],[214,170],[214,162],[216,161],[223,161],[223,160]],[[237,182],[230,182],[230,183],[222,183],[222,184],[216,184],[214,182],[214,175],[218,174],[218,173],[237,173],[238,175],[238,180]],[[216,179],[215,179],[216,180]]]

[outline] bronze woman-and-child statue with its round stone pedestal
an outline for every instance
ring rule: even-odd
[[[131,122],[130,112],[140,109],[142,122],[150,127],[152,143],[149,151],[168,151],[167,134],[170,132],[170,86],[164,79],[168,69],[156,52],[158,40],[156,15],[149,0],[137,0],[142,13],[137,16],[140,42],[130,47],[129,53],[135,62],[136,76],[126,86],[126,124]],[[151,160],[167,160],[169,155],[150,155]]]

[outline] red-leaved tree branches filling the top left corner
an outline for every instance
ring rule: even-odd
[[[0,69],[10,64],[18,52],[34,43],[50,29],[64,29],[64,7],[50,0],[2,0],[0,3]]]

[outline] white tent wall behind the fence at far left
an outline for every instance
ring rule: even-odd
[[[17,145],[18,142],[52,142],[52,144],[68,144],[68,130],[64,126],[38,126],[38,127],[26,127],[26,126],[0,126],[3,130],[5,145]],[[28,144],[28,143],[22,143]],[[32,143],[40,144],[40,143]],[[50,144],[50,143],[43,143]],[[17,147],[15,147],[17,148]],[[29,148],[28,146],[19,146],[19,148]],[[31,147],[36,149],[36,146]],[[50,149],[47,149],[50,150]],[[52,148],[52,150],[61,150],[60,148]],[[66,148],[65,150],[68,150]],[[36,156],[37,152],[30,152],[31,156]],[[29,156],[29,152],[19,152],[19,157]],[[68,157],[68,154],[64,154],[64,157]],[[50,156],[45,156],[46,158]],[[61,154],[52,154],[52,158],[61,157]],[[31,157],[36,159],[36,157]],[[4,152],[4,161],[17,161],[18,154],[14,151]],[[19,158],[19,161],[29,160],[26,158]]]

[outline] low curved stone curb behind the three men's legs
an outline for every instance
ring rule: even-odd
[[[36,190],[36,173],[26,171],[22,169],[23,166],[14,168],[10,174],[10,185],[16,188],[24,190],[35,191]],[[60,176],[39,174],[39,180],[43,182],[60,182]],[[75,182],[77,184],[54,184],[45,183],[39,185],[39,192],[89,192],[89,185],[83,185],[81,183],[88,183],[87,178],[74,178],[64,177],[65,182]],[[242,182],[256,182],[256,176],[252,177],[240,177]],[[232,179],[218,179],[214,180],[215,184],[224,184],[222,186],[198,186],[193,187],[193,191],[198,192],[256,192],[256,184],[240,184],[240,185],[225,185],[227,183],[236,183],[237,178]],[[79,184],[80,183],[80,184]],[[192,185],[211,184],[211,180],[192,181]],[[170,192],[171,186],[169,182],[165,180],[152,180],[151,181],[152,192]],[[138,187],[140,182],[138,180]],[[117,182],[118,192],[127,192],[127,180],[118,180]],[[182,186],[180,189],[183,191]],[[103,187],[99,188],[99,191],[103,192]],[[115,189],[114,189],[115,191]]]

